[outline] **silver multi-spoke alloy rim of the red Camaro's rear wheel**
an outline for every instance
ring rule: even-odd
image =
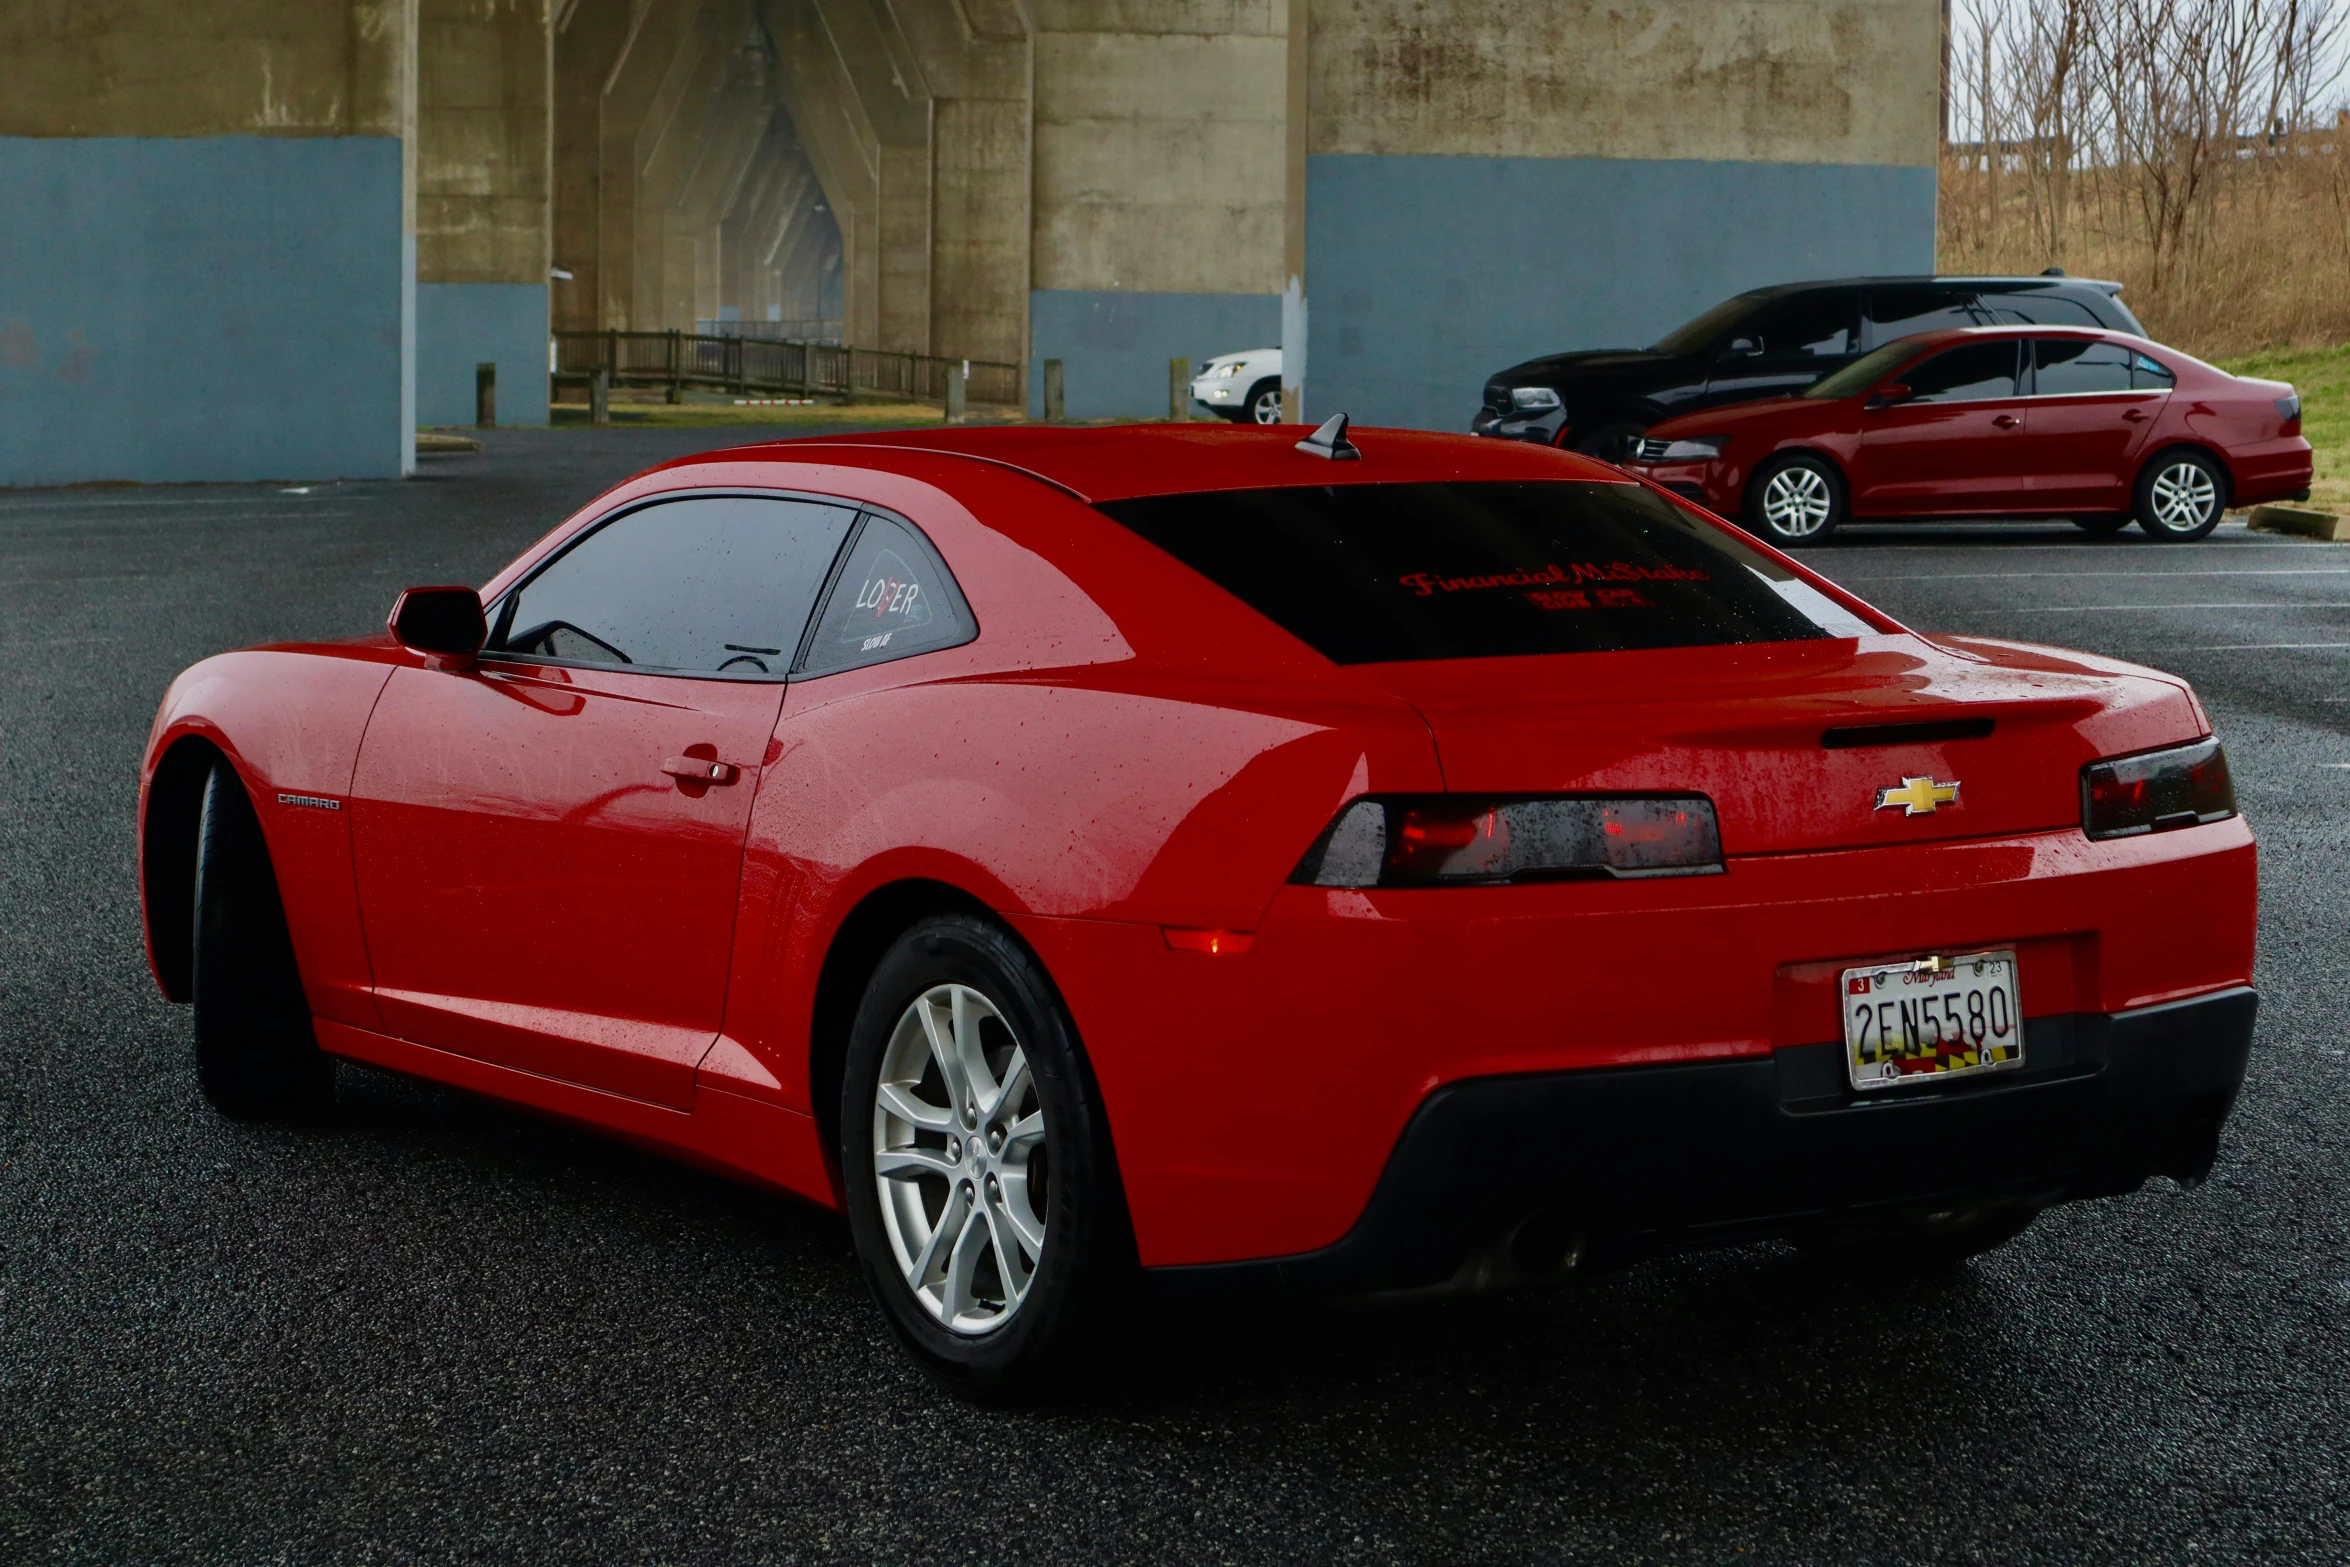
[[[1008,1323],[1036,1280],[1050,1201],[1043,1102],[1003,1013],[968,984],[907,1006],[874,1088],[881,1229],[952,1332]]]

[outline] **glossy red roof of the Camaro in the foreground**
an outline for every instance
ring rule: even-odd
[[[1130,500],[1215,489],[1285,489],[1304,484],[1441,484],[1457,479],[1584,479],[1629,484],[1605,463],[1572,451],[1429,430],[1354,428],[1361,460],[1340,463],[1300,451],[1302,425],[961,425],[874,435],[811,435],[736,446],[665,463],[855,463],[895,468],[893,458],[942,453],[1010,468],[1079,500]]]

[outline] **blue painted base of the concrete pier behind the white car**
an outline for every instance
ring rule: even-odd
[[[1166,418],[1168,359],[1281,343],[1278,294],[1029,294],[1029,418],[1043,418],[1043,362],[1062,362],[1069,418]],[[1198,413],[1208,418],[1208,413]]]

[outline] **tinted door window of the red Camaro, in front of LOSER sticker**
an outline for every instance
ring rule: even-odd
[[[851,522],[846,505],[752,496],[625,512],[505,594],[484,651],[780,679]]]

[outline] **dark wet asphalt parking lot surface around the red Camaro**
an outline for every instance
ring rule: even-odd
[[[1812,557],[1920,630],[2190,677],[2263,846],[2211,1182],[2056,1210],[1941,1283],[1758,1247],[1163,1313],[1081,1398],[1001,1414],[893,1351],[827,1215],[357,1069],[317,1125],[209,1114],[139,949],[169,677],[484,580],[710,444],[517,430],[407,484],[0,493],[0,1560],[2350,1558],[2350,547],[2240,524]]]

